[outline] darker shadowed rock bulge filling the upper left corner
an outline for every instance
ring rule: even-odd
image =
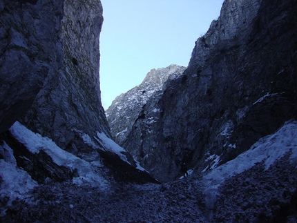
[[[63,64],[63,1],[0,2],[0,133],[32,105]]]

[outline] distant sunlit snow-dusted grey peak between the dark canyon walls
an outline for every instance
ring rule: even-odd
[[[175,64],[166,68],[152,69],[142,84],[115,98],[105,112],[115,142],[122,145],[148,99],[162,93],[164,83],[168,79],[178,78],[185,69]]]

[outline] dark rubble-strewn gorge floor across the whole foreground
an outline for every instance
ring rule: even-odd
[[[297,168],[289,153],[222,183],[207,200],[204,177],[166,184],[115,184],[102,191],[70,182],[36,187],[1,222],[296,222]],[[213,202],[213,210],[207,202]]]

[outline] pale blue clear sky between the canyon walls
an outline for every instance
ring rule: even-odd
[[[100,88],[105,109],[153,68],[188,66],[224,0],[101,0]]]

